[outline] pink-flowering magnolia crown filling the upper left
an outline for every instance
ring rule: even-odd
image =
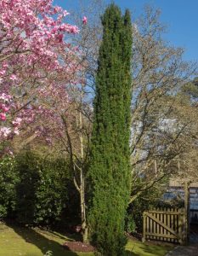
[[[58,109],[43,104],[42,97],[50,101],[58,94],[66,108],[65,84],[78,83],[81,53],[66,41],[78,29],[65,22],[68,13],[52,2],[0,0],[0,142],[36,117],[57,119]],[[86,17],[82,22],[87,23]]]

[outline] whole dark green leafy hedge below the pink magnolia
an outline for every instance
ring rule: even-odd
[[[25,152],[0,161],[0,218],[52,225],[79,220],[69,161]]]

